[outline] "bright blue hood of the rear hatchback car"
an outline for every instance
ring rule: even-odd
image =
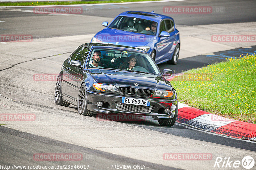
[[[102,43],[118,44],[132,47],[146,46],[149,42],[156,39],[156,36],[152,35],[115,30],[110,28],[105,28],[101,30],[94,37],[101,40]]]

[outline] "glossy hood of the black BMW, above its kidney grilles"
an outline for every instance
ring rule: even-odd
[[[116,87],[132,86],[136,88],[165,89],[171,90],[170,82],[161,76],[118,70],[90,69],[88,72],[98,83],[111,84]],[[134,83],[138,83],[135,86]]]

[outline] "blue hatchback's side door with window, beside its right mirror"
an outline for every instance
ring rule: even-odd
[[[162,31],[166,31],[170,33],[169,37],[158,37],[158,43],[156,44],[156,50],[157,50],[157,58],[156,62],[158,60],[165,60],[170,57],[172,44],[173,44],[173,35],[172,35],[172,25],[170,19],[162,20],[159,27],[159,35]]]

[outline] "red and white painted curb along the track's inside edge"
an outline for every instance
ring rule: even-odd
[[[256,141],[256,124],[221,117],[180,102],[178,109],[176,122],[180,124],[233,138]]]

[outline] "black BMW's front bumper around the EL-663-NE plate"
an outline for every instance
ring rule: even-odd
[[[139,98],[132,96],[120,96],[119,94],[107,94],[98,93],[93,91],[87,91],[87,109],[95,114],[124,114],[124,115],[140,115],[140,116],[152,116],[154,119],[170,119],[174,117],[175,109],[177,105],[177,99],[160,99],[160,98]],[[150,106],[140,106],[133,104],[123,104],[122,97],[136,98],[136,99],[149,99]],[[103,106],[98,107],[96,103],[98,101],[104,102]],[[122,104],[120,104],[122,103]],[[120,105],[125,106],[120,109]],[[140,109],[138,112],[131,111],[133,108]],[[143,108],[142,108],[143,107]],[[150,107],[147,108],[147,107]],[[127,109],[128,108],[128,109]],[[129,110],[131,108],[131,110]],[[165,113],[164,108],[169,108],[170,112]],[[148,110],[143,112],[143,109]],[[152,110],[152,111],[151,111]]]

